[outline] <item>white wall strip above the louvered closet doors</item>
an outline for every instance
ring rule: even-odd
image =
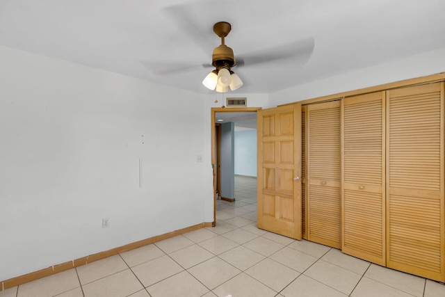
[[[270,106],[445,72],[445,47],[270,94]]]

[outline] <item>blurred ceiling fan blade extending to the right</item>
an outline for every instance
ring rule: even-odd
[[[305,38],[280,47],[261,49],[250,54],[236,56],[236,67],[268,63],[284,59],[289,60],[292,64],[298,63],[298,65],[305,65],[312,56],[314,46],[314,38]]]

